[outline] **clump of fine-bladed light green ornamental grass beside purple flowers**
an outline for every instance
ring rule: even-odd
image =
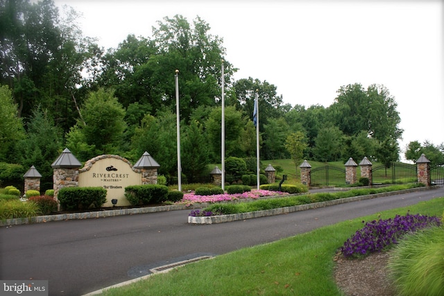
[[[444,295],[444,227],[404,236],[388,261],[398,295]]]

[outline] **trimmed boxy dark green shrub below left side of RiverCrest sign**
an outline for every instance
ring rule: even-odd
[[[60,207],[66,210],[99,208],[106,202],[102,187],[65,187],[58,192]]]

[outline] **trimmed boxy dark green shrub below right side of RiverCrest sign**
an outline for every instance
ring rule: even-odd
[[[156,204],[168,200],[168,187],[157,184],[128,186],[125,197],[133,205]]]

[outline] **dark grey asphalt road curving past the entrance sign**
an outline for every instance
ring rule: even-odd
[[[442,196],[441,186],[216,225],[189,225],[185,210],[0,227],[0,279],[49,280],[49,295],[78,296],[147,275],[156,266],[224,254]]]

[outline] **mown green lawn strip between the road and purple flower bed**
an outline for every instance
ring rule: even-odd
[[[444,198],[321,227],[274,243],[190,263],[103,295],[341,295],[333,278],[334,254],[362,221],[396,214],[443,216]],[[205,238],[203,238],[205,239]]]

